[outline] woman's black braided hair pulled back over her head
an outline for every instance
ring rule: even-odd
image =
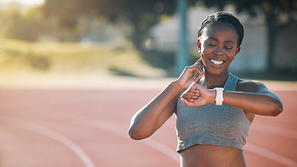
[[[239,22],[239,19],[234,17],[234,15],[223,11],[211,14],[203,20],[203,22],[200,24],[200,29],[198,30],[198,38],[200,38],[200,36],[202,35],[202,30],[205,27],[209,27],[218,23],[226,23],[234,27],[234,29],[237,31],[239,35],[239,40],[237,44],[237,47],[239,47],[241,45],[244,35],[243,26],[241,22]]]

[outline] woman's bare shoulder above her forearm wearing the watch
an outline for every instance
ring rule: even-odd
[[[245,81],[238,79],[236,90],[250,93],[264,93],[268,88],[260,81]]]

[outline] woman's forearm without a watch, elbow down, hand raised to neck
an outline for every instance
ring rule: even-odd
[[[151,102],[139,110],[131,120],[129,135],[134,139],[151,136],[175,111],[177,98],[182,88],[170,83]]]

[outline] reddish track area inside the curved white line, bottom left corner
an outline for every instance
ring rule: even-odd
[[[0,166],[84,166],[65,145],[47,136],[8,122],[0,125]]]

